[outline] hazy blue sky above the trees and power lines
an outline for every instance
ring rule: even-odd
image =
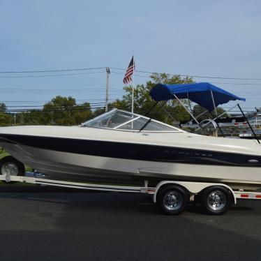
[[[261,107],[260,13],[258,0],[1,0],[0,72],[101,69],[0,73],[0,102],[41,106],[61,95],[103,105],[104,67],[125,70],[134,54],[136,70],[257,79],[194,77],[246,98],[245,110]],[[124,94],[124,70],[111,69],[111,100]],[[135,84],[149,75],[136,72]]]

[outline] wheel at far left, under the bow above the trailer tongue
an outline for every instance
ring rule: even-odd
[[[10,176],[24,176],[24,164],[17,161],[13,156],[6,156],[0,160],[0,174],[6,177]]]

